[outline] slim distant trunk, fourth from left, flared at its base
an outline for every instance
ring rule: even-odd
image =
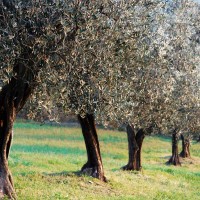
[[[167,163],[173,164],[175,166],[181,165],[178,154],[178,139],[179,139],[179,134],[176,130],[174,130],[172,134],[172,156]]]

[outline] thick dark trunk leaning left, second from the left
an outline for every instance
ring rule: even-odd
[[[81,124],[88,158],[81,171],[87,175],[106,181],[94,116],[92,114],[87,114],[85,118],[82,118],[78,115],[78,119]]]

